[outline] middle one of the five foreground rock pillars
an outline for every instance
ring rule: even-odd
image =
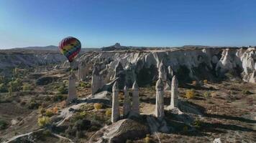
[[[140,114],[139,87],[136,81],[132,85],[132,112]]]

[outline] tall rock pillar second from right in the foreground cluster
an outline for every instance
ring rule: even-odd
[[[157,80],[157,83],[155,85],[156,90],[156,102],[155,102],[155,116],[158,119],[161,119],[165,116],[165,110],[164,110],[164,92],[163,92],[163,80],[160,78]]]

